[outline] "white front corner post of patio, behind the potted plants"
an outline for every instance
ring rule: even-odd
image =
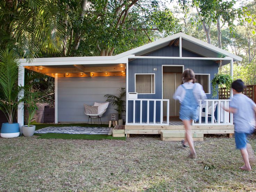
[[[25,67],[19,66],[19,76],[18,76],[18,85],[23,87],[24,86],[24,79],[25,79]],[[18,99],[21,99],[24,97],[24,92],[19,94]],[[24,125],[24,102],[19,103],[18,105],[18,114],[17,114],[17,120],[19,123],[19,132],[22,134],[22,126]]]

